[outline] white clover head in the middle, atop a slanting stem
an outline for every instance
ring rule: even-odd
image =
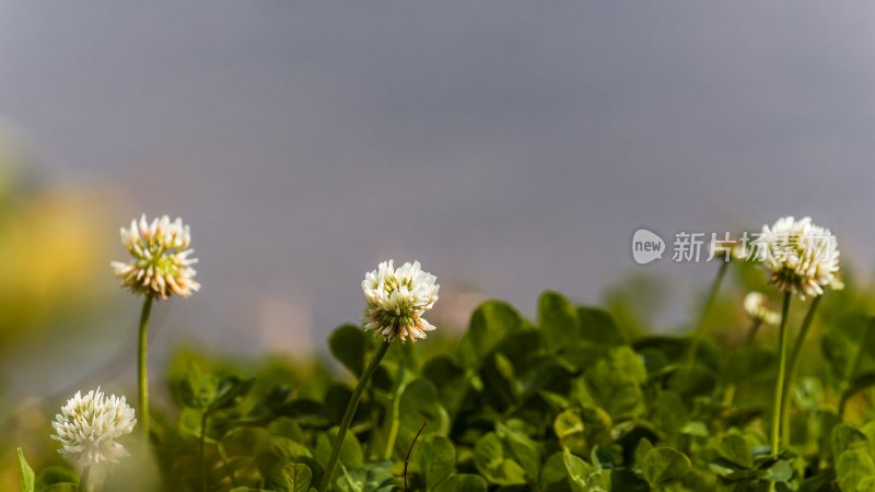
[[[434,329],[422,315],[438,301],[433,274],[422,271],[419,261],[393,268],[393,260],[383,261],[376,270],[364,276],[362,292],[368,302],[364,309],[364,329],[374,330],[387,341],[395,337],[401,341],[425,338]]]

